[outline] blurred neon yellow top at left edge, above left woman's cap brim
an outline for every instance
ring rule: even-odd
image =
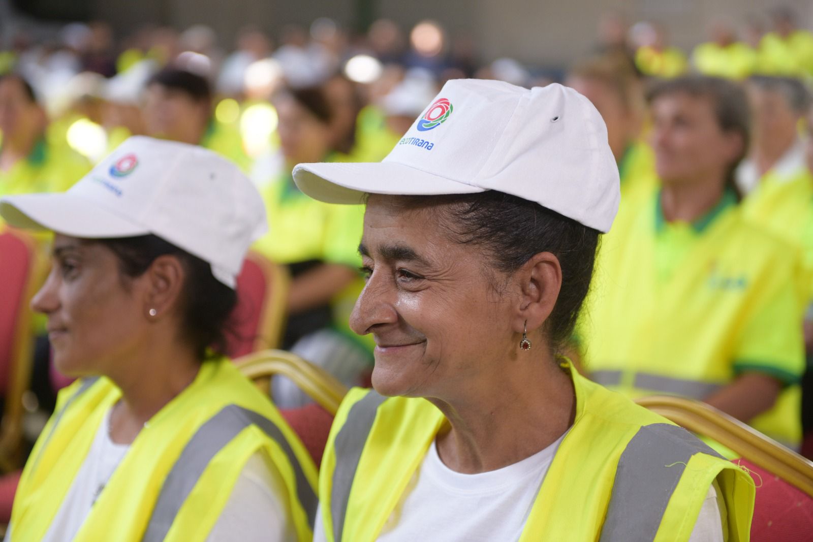
[[[66,145],[37,141],[28,158],[0,171],[0,196],[63,192],[90,171],[90,163]]]

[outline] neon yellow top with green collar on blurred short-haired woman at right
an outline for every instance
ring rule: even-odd
[[[580,319],[585,366],[619,371],[618,384],[605,382],[628,397],[666,391],[638,388],[640,374],[720,387],[744,371],[772,375],[785,388],[751,425],[798,445],[798,258],[732,199],[693,224],[663,220],[658,191],[622,208],[602,240]]]

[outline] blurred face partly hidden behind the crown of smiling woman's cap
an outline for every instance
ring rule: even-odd
[[[602,80],[572,76],[567,79],[567,86],[593,102],[593,106],[602,115],[607,126],[607,141],[615,156],[615,162],[620,162],[627,145],[637,135],[637,116],[630,111],[624,98]]]

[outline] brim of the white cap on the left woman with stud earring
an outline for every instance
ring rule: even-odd
[[[0,199],[0,216],[15,228],[51,230],[72,237],[140,236],[147,228],[72,193],[37,193]]]

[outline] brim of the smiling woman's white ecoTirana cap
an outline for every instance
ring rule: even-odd
[[[301,163],[293,180],[303,193],[327,203],[362,203],[364,194],[436,196],[484,192],[397,162]]]

